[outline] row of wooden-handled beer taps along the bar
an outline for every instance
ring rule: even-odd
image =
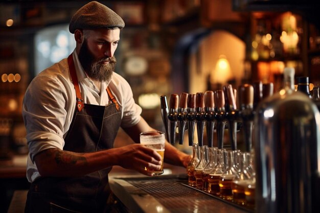
[[[167,140],[184,144],[185,131],[188,129],[189,146],[194,143],[194,131],[197,128],[198,145],[203,146],[204,128],[207,131],[208,147],[213,147],[214,131],[217,133],[217,146],[223,148],[223,136],[228,129],[231,149],[237,150],[237,131],[243,129],[245,151],[250,152],[253,146],[254,113],[258,103],[273,94],[273,84],[243,84],[234,89],[231,84],[215,91],[188,94],[182,92],[171,94],[168,107],[167,97],[161,96],[161,113]],[[239,108],[236,100],[238,98]]]

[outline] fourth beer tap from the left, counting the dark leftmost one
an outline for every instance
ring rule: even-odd
[[[195,129],[195,126],[196,126],[195,112],[196,112],[196,94],[188,94],[188,99],[187,99],[187,120],[188,120],[189,146],[193,146],[194,129]]]

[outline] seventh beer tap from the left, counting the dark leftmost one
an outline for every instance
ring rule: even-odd
[[[216,108],[215,119],[217,121],[218,148],[222,149],[225,128],[224,93],[222,90],[214,91],[214,103]]]

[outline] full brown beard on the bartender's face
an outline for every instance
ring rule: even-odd
[[[80,48],[79,61],[87,76],[95,81],[109,81],[111,80],[112,73],[115,71],[115,64],[117,62],[114,56],[105,58],[95,58],[88,49],[87,40],[83,41]],[[107,64],[103,64],[108,62]]]

